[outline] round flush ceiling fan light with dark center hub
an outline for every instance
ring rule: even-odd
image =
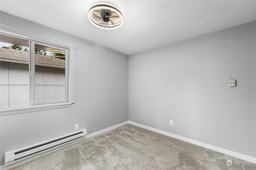
[[[102,29],[116,29],[123,24],[122,12],[111,4],[94,4],[88,11],[89,21]]]

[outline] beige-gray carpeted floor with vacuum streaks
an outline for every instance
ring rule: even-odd
[[[256,164],[127,124],[11,170],[256,170]]]

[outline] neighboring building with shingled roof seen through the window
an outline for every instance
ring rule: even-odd
[[[0,48],[0,54],[0,107],[29,105],[28,51]],[[65,60],[35,58],[35,102],[65,100]]]

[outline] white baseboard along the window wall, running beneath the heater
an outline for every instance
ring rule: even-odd
[[[7,166],[2,165],[2,166],[0,166],[0,170],[8,170],[8,169],[13,168],[13,167],[15,167],[15,166],[19,166],[19,165],[24,164],[24,163],[26,163],[26,162],[29,162],[29,161],[31,161],[31,160],[33,160],[33,159],[39,158],[40,156],[44,156],[44,155],[46,155],[46,154],[50,154],[50,153],[52,153],[52,152],[54,152],[54,151],[56,151],[56,150],[62,149],[62,148],[64,148],[64,147],[68,147],[68,146],[70,146],[70,145],[73,145],[73,144],[78,143],[78,142],[80,142],[80,141],[83,141],[83,140],[85,140],[85,139],[94,137],[94,136],[96,136],[96,135],[100,135],[101,133],[110,131],[110,130],[115,129],[115,128],[117,128],[117,127],[121,127],[121,126],[126,125],[126,124],[128,124],[128,123],[129,123],[129,121],[126,121],[126,122],[120,123],[120,124],[118,124],[118,125],[114,125],[114,126],[112,126],[112,127],[108,127],[108,128],[103,129],[103,130],[101,130],[101,131],[98,131],[98,132],[95,132],[95,133],[86,135],[85,137],[81,137],[81,138],[79,138],[79,139],[77,139],[77,140],[74,140],[74,141],[72,141],[72,142],[70,142],[70,143],[66,143],[66,144],[64,144],[64,145],[62,145],[62,146],[58,146],[58,147],[56,147],[56,148],[54,148],[54,149],[51,149],[51,150],[48,150],[48,151],[46,151],[46,152],[42,152],[42,153],[40,153],[40,154],[36,154],[36,155],[31,156],[31,157],[29,157],[29,158],[26,158],[26,159],[24,159],[24,160],[20,160],[20,161],[18,161],[18,162],[13,163],[13,164],[9,164],[9,165],[7,165]]]

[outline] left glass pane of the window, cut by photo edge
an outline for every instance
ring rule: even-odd
[[[0,107],[29,105],[28,41],[0,35]]]

